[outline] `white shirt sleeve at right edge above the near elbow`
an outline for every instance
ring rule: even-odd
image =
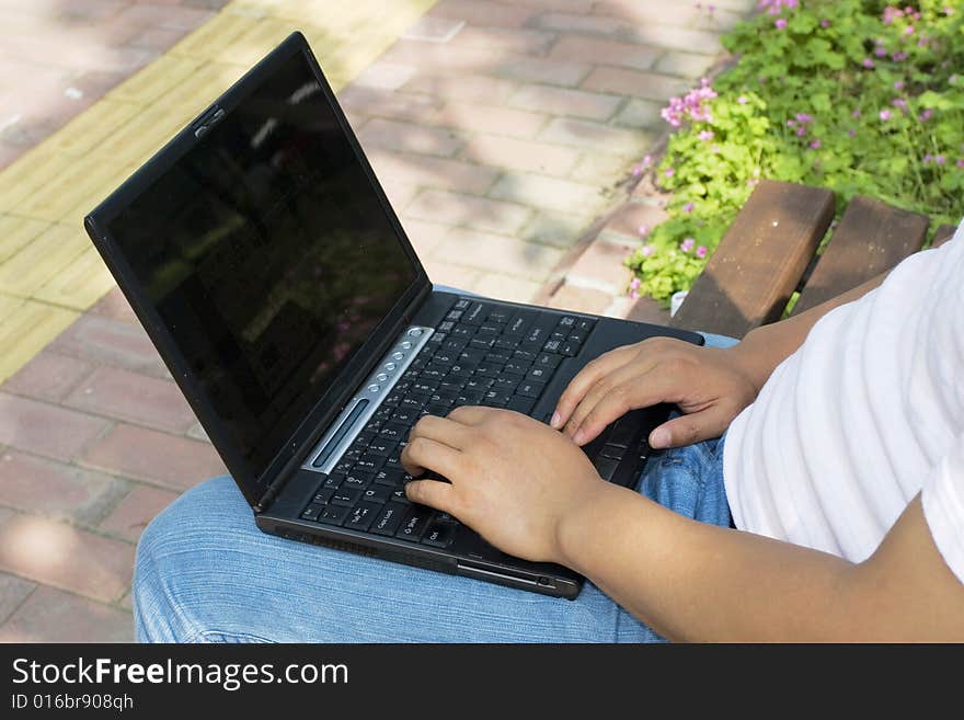
[[[938,550],[964,583],[964,436],[923,481],[921,504]]]

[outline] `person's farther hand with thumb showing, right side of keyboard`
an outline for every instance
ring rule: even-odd
[[[758,392],[735,348],[651,338],[586,365],[560,397],[550,424],[585,445],[630,410],[673,402],[684,414],[654,428],[650,445],[677,447],[722,435]]]

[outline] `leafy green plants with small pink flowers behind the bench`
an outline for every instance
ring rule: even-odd
[[[688,289],[760,178],[829,187],[839,208],[862,194],[956,224],[961,4],[761,0],[723,38],[738,61],[663,111],[680,128],[651,169],[673,193],[669,218],[627,260],[630,292],[666,302]]]

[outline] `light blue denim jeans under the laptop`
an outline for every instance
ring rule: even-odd
[[[639,492],[728,525],[723,442],[654,454]],[[565,601],[265,535],[228,477],[184,493],[145,530],[134,617],[147,642],[663,640],[589,582]]]

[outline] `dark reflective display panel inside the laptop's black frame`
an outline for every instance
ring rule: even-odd
[[[254,476],[416,278],[300,54],[110,230]]]

